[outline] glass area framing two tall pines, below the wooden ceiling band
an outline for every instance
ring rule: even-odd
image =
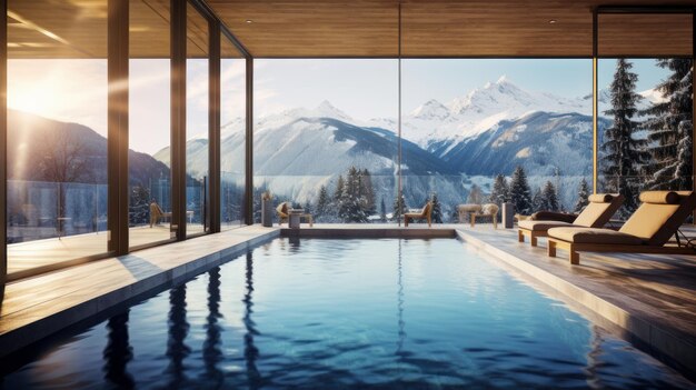
[[[692,59],[601,59],[598,72],[598,187],[626,197],[618,218],[642,191],[692,190]]]

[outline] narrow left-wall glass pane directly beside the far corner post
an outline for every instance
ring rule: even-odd
[[[220,37],[220,229],[243,224],[246,60]]]

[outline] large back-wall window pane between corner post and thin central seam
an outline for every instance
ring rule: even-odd
[[[398,188],[397,61],[257,60],[255,67],[255,221],[262,193],[272,197],[271,213],[287,202],[318,222],[390,219]]]

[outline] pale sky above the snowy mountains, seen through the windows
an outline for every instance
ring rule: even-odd
[[[634,60],[637,91],[667,76],[654,60]],[[208,131],[207,61],[187,67],[187,138]],[[615,60],[600,60],[599,87],[613,77]],[[523,89],[565,98],[591,92],[587,59],[409,59],[401,63],[402,112],[430,99],[448,103],[501,76]],[[245,112],[245,62],[222,63],[221,122]],[[396,118],[398,61],[366,59],[295,59],[255,61],[255,116],[285,109],[314,108],[324,100],[355,119]],[[155,153],[169,146],[168,60],[130,61],[130,148]],[[8,106],[46,118],[77,122],[107,134],[106,60],[9,60]]]

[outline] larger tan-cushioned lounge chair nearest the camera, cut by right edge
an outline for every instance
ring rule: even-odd
[[[548,256],[565,249],[571,264],[579,264],[578,252],[628,252],[696,254],[693,247],[666,246],[669,238],[696,208],[693,191],[646,191],[640,207],[618,231],[593,228],[548,230]]]

